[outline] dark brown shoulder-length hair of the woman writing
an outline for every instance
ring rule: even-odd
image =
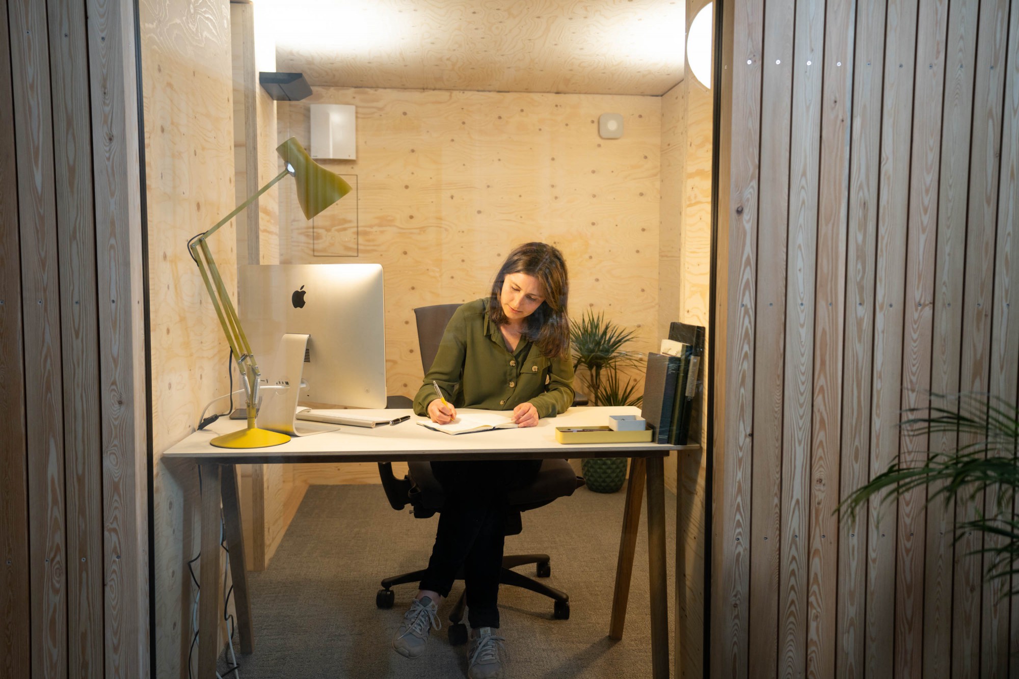
[[[498,325],[509,322],[502,312],[499,295],[502,281],[511,273],[534,276],[545,298],[541,306],[525,319],[524,336],[547,358],[565,356],[570,349],[570,319],[567,316],[570,279],[562,253],[544,243],[525,243],[509,253],[495,274],[488,303],[488,317]]]

